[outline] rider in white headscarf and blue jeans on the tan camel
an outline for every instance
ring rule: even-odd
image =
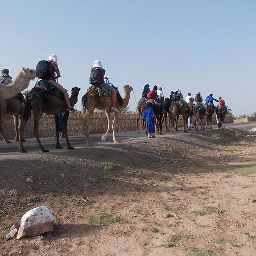
[[[114,89],[113,86],[107,84],[104,79],[106,78],[105,77],[105,69],[103,68],[102,64],[101,64],[101,61],[100,60],[95,60],[94,63],[93,63],[93,66],[92,66],[92,69],[91,69],[91,74],[92,74],[92,71],[99,71],[98,72],[98,85],[97,86],[101,86],[102,88],[106,89],[106,90],[109,90],[110,92],[112,92],[112,96],[111,96],[111,101],[112,101],[112,107],[110,108],[110,110],[112,110],[113,112],[117,112],[119,113],[119,110],[117,109],[117,107],[115,106],[115,101],[117,99],[117,90]]]

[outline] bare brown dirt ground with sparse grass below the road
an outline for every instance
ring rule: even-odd
[[[1,154],[0,254],[256,255],[255,142],[214,129]],[[40,205],[55,230],[4,241]]]

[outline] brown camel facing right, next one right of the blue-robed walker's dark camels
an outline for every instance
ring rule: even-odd
[[[192,108],[193,108],[193,101],[194,99],[191,98],[189,100],[189,109],[185,110],[183,104],[181,105],[180,104],[180,101],[179,100],[176,100],[176,101],[173,101],[172,103],[172,119],[171,119],[171,126],[172,126],[172,131],[174,133],[176,133],[176,129],[175,129],[175,119],[177,117],[177,115],[182,115],[183,117],[183,131],[184,133],[187,133],[187,120],[188,120],[188,117],[189,117],[189,114],[191,113],[192,111]]]

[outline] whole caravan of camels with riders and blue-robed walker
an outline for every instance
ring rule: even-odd
[[[109,131],[112,129],[113,141],[114,143],[118,142],[115,137],[115,124],[118,122],[118,114],[129,104],[130,93],[133,91],[133,88],[126,84],[123,86],[123,97],[121,97],[118,89],[105,76],[105,72],[101,61],[94,61],[89,77],[90,87],[82,96],[81,113],[88,146],[93,145],[89,139],[89,121],[95,109],[104,110],[108,119],[108,129],[102,135],[102,141],[106,141]],[[25,100],[21,92],[36,77],[40,80],[27,93]],[[39,61],[36,69],[22,68],[14,81],[9,75],[9,70],[2,69],[2,76],[0,76],[0,133],[5,143],[10,143],[10,141],[3,134],[3,118],[5,114],[9,114],[14,117],[15,141],[19,141],[19,151],[27,152],[23,147],[25,141],[23,135],[27,122],[32,115],[34,118],[33,133],[36,141],[38,141],[43,152],[48,152],[42,145],[38,133],[40,118],[43,113],[46,113],[55,116],[56,148],[62,148],[59,141],[59,115],[63,113],[64,137],[67,142],[67,149],[74,149],[68,139],[67,124],[69,113],[77,111],[73,107],[77,103],[80,88],[72,88],[69,97],[67,90],[59,84],[59,77],[61,75],[57,65],[57,56],[54,54],[50,55],[48,60]],[[217,108],[214,106],[213,100],[219,102]],[[155,133],[162,134],[163,122],[166,131],[170,131],[171,127],[172,133],[176,133],[177,121],[180,115],[183,117],[184,132],[191,130],[192,127],[199,131],[199,125],[203,130],[205,115],[207,116],[206,128],[212,129],[211,122],[214,111],[217,114],[221,129],[224,129],[224,119],[227,113],[225,101],[221,97],[219,100],[214,99],[212,94],[205,101],[206,104],[203,103],[203,97],[200,93],[196,94],[195,99],[188,93],[184,100],[179,88],[175,92],[171,92],[169,98],[164,98],[161,87],[158,88],[155,85],[150,90],[150,86],[147,84],[144,86],[142,98],[137,105],[137,133],[139,133],[139,120],[142,121],[142,128],[149,138],[154,138]],[[113,119],[111,113],[113,113]]]

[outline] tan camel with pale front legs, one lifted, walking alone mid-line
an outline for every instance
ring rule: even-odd
[[[122,98],[119,92],[117,92],[117,100],[116,100],[116,107],[118,110],[126,108],[129,104],[130,100],[130,93],[133,88],[130,85],[124,85],[123,91],[125,92],[125,96]],[[94,86],[82,96],[82,117],[84,118],[83,126],[84,126],[84,133],[85,138],[88,146],[93,146],[92,142],[89,139],[89,120],[93,114],[94,109],[105,110],[106,117],[108,119],[108,129],[104,135],[102,135],[101,140],[106,141],[108,137],[108,133],[110,130],[110,126],[112,126],[113,130],[113,141],[114,143],[118,143],[117,138],[115,138],[115,123],[117,122],[118,113],[114,113],[114,118],[112,122],[112,118],[110,110],[112,106],[111,96],[99,96],[96,88]]]

